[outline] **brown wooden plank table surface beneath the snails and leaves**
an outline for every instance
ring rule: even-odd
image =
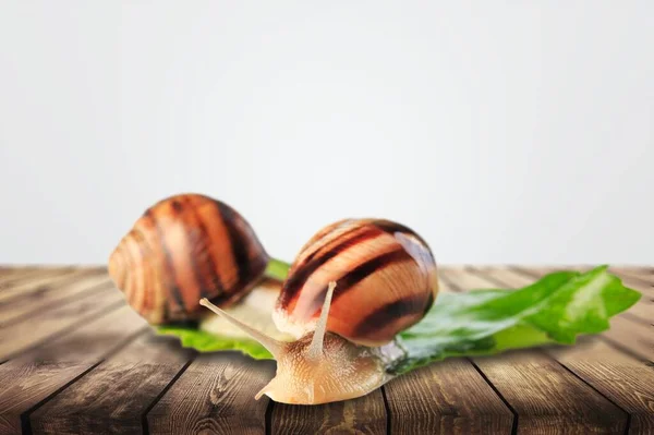
[[[445,291],[553,268],[443,267]],[[641,301],[573,347],[446,360],[355,400],[255,392],[272,361],[156,336],[104,268],[0,268],[0,434],[654,434],[654,268],[611,268]]]

